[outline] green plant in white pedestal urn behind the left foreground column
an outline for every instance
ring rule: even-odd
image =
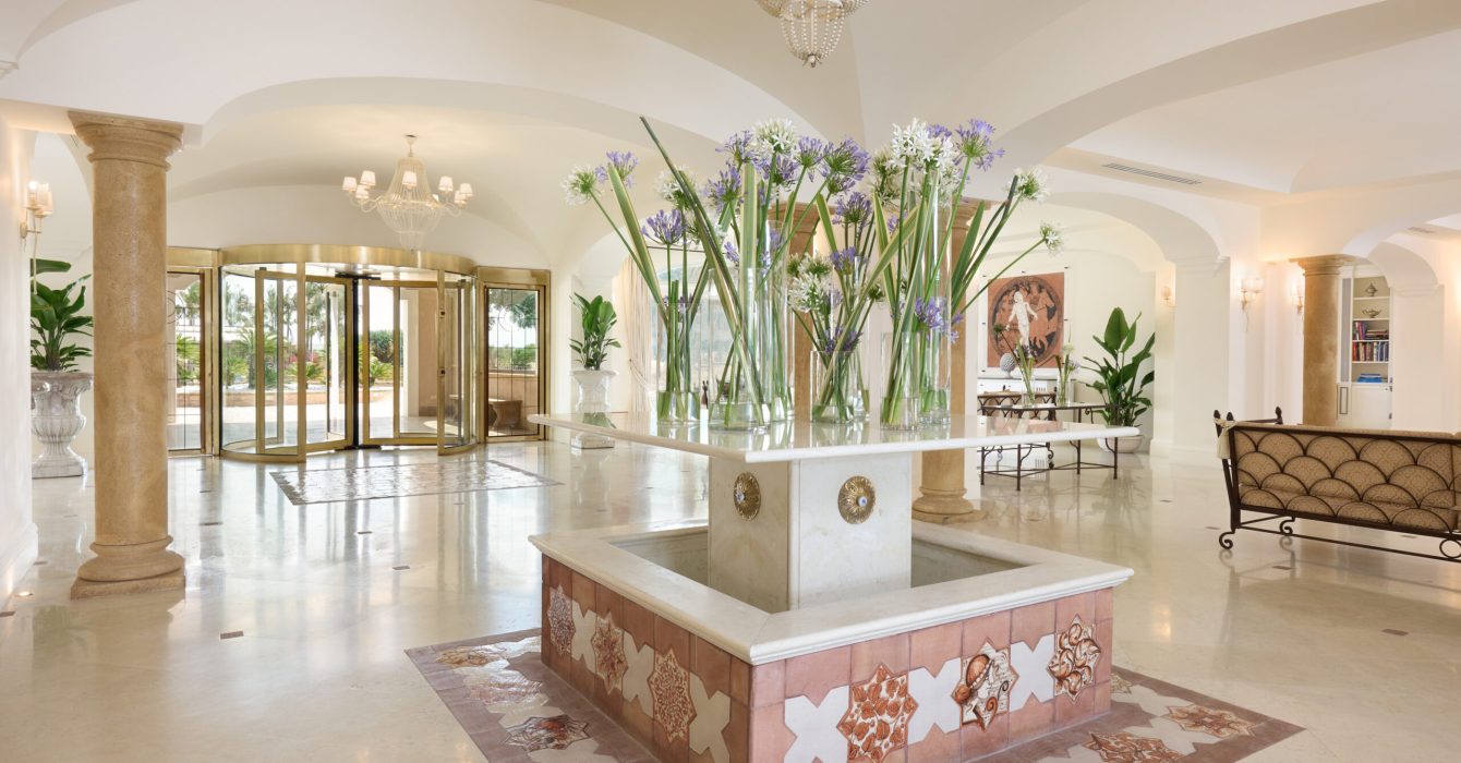
[[[70,265],[37,260],[34,272],[70,270]],[[72,450],[72,440],[86,425],[80,396],[92,386],[92,374],[77,370],[91,349],[72,343],[75,336],[91,336],[92,319],[83,316],[86,286],[82,276],[53,289],[39,279],[31,281],[31,430],[44,444],[31,465],[31,477],[80,477],[86,459]]]

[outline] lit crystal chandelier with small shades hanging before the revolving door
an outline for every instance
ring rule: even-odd
[[[371,197],[370,190],[375,187],[375,172],[371,170],[362,171],[359,178],[346,177],[340,184],[340,190],[361,208],[361,212],[378,212],[380,219],[396,231],[400,246],[406,248],[421,248],[427,234],[441,222],[441,215],[453,218],[460,215],[462,208],[472,199],[472,184],[453,187],[451,175],[441,175],[437,191],[432,193],[427,165],[413,151],[415,143],[416,136],[408,134],[406,155],[396,159],[396,175],[390,178],[386,193]]]

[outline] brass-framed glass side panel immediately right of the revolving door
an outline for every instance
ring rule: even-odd
[[[542,409],[542,289],[487,286],[487,439],[538,437],[527,417]]]

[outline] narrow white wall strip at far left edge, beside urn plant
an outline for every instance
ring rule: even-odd
[[[32,133],[16,130],[0,110],[0,601],[7,599],[37,554],[31,516],[31,339],[28,259],[15,231],[23,216]]]

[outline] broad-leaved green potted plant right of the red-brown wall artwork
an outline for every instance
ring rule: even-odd
[[[1151,386],[1156,371],[1143,374],[1141,365],[1151,360],[1151,346],[1157,336],[1148,333],[1141,349],[1132,352],[1131,349],[1137,346],[1138,320],[1141,320],[1140,313],[1128,323],[1122,308],[1112,310],[1110,319],[1106,320],[1106,335],[1091,338],[1097,346],[1106,351],[1106,357],[1100,360],[1086,358],[1087,368],[1096,374],[1096,382],[1091,382],[1090,387],[1100,393],[1105,403],[1102,415],[1106,418],[1106,424],[1115,427],[1135,427],[1141,415],[1151,409],[1147,387]],[[1141,437],[1109,437],[1100,444],[1106,450],[1134,453],[1141,447],[1144,439],[1144,434]]]

